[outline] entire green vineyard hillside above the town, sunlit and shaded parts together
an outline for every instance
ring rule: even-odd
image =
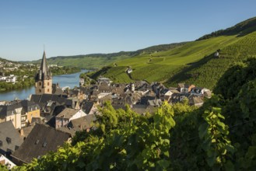
[[[254,30],[256,18],[248,19],[233,28]],[[247,23],[247,24],[245,24]],[[240,27],[239,27],[240,26]],[[243,27],[244,26],[244,27]],[[251,27],[250,27],[251,26]],[[231,29],[227,30],[231,30]],[[240,30],[239,33],[244,33]],[[226,33],[223,30],[222,33]],[[234,33],[234,32],[233,32]],[[104,72],[96,72],[93,76],[104,75],[114,82],[132,82],[146,79],[148,82],[163,82],[167,86],[177,86],[178,82],[193,83],[213,89],[216,82],[230,65],[256,55],[256,32],[216,36],[188,42],[168,51],[139,54],[109,65]],[[214,53],[219,51],[219,58]],[[130,77],[127,68],[132,68]]]

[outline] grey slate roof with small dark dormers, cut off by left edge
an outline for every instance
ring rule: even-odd
[[[12,121],[0,123],[0,153],[9,156],[23,144],[23,137],[16,131]]]

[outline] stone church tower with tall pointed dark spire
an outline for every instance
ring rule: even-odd
[[[36,94],[52,93],[52,75],[47,66],[45,51],[41,61],[40,69],[35,76]]]

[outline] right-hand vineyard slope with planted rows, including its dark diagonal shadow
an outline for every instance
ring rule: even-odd
[[[195,63],[195,65],[185,68],[167,83],[174,86],[177,82],[193,82],[197,86],[213,89],[216,82],[232,65],[247,58],[256,57],[255,47],[256,32],[240,37],[233,44],[220,48],[219,58],[215,58],[211,54],[198,61],[198,64]]]

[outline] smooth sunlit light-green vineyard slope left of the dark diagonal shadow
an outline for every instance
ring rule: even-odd
[[[113,78],[114,82],[131,82],[132,80],[147,80],[148,82],[167,82],[177,72],[188,68],[188,64],[202,60],[205,56],[216,50],[233,44],[239,37],[215,37],[209,40],[189,42],[180,47],[174,47],[169,51],[155,52],[151,54],[139,54],[133,58],[117,61],[116,66],[110,65],[110,69],[103,75]],[[132,68],[131,79],[124,79],[127,67]],[[119,70],[119,72],[117,71]]]

